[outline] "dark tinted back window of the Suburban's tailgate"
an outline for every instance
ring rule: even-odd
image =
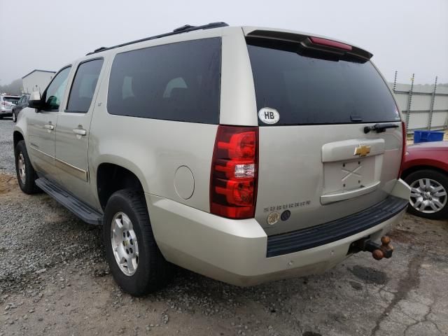
[[[371,62],[301,55],[297,43],[248,39],[258,110],[279,112],[275,125],[380,123],[400,120]],[[265,125],[259,120],[259,125]]]

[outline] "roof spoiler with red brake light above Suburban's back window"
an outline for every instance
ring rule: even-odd
[[[346,55],[356,57],[363,62],[367,62],[373,56],[370,52],[354,47],[353,45],[332,41],[327,38],[293,34],[286,31],[254,30],[246,36],[251,38],[275,39],[279,41],[299,43],[302,48],[307,50],[318,50],[339,56]]]

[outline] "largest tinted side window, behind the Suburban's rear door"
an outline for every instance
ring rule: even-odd
[[[221,38],[158,45],[116,55],[107,109],[140,118],[218,124]]]

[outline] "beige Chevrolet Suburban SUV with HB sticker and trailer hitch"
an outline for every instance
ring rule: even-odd
[[[99,48],[18,116],[18,183],[102,225],[132,295],[173,264],[251,286],[390,258],[405,127],[371,57],[223,22]]]

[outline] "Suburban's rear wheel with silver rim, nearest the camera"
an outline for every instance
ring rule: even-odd
[[[104,211],[103,239],[113,278],[125,292],[145,295],[171,279],[172,265],[155,242],[141,192],[113,193]]]

